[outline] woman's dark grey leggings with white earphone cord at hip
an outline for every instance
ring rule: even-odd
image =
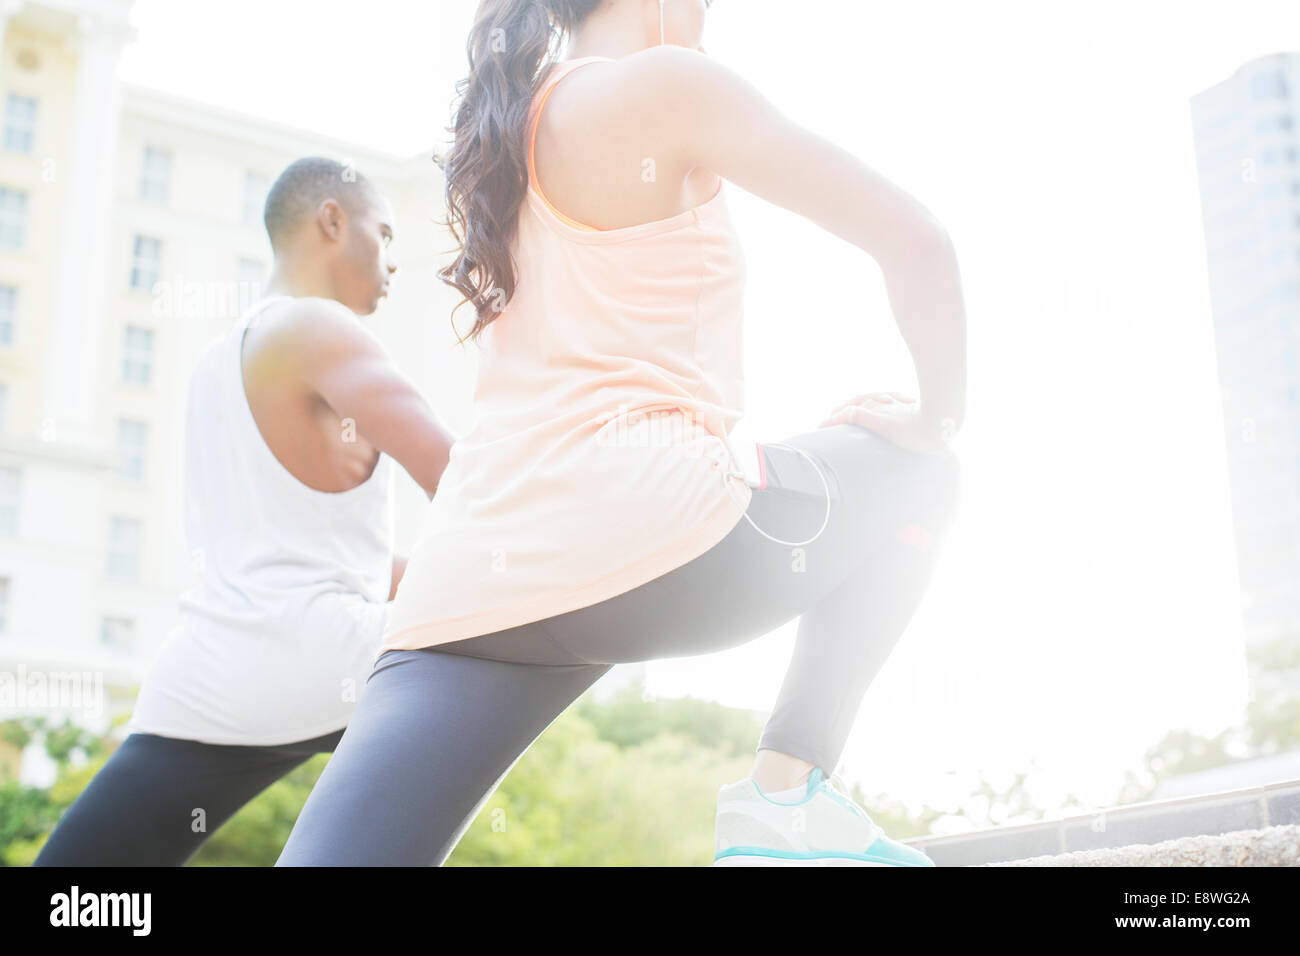
[[[784,444],[829,481],[816,541],[775,544],[742,518],[701,557],[608,601],[381,654],[277,865],[441,865],[519,757],[611,665],[724,650],[794,618],[794,654],[758,749],[832,771],[930,584],[961,468],[948,449],[906,451],[858,425]],[[785,457],[781,471],[754,492],[749,515],[803,541],[826,496],[805,459]]]

